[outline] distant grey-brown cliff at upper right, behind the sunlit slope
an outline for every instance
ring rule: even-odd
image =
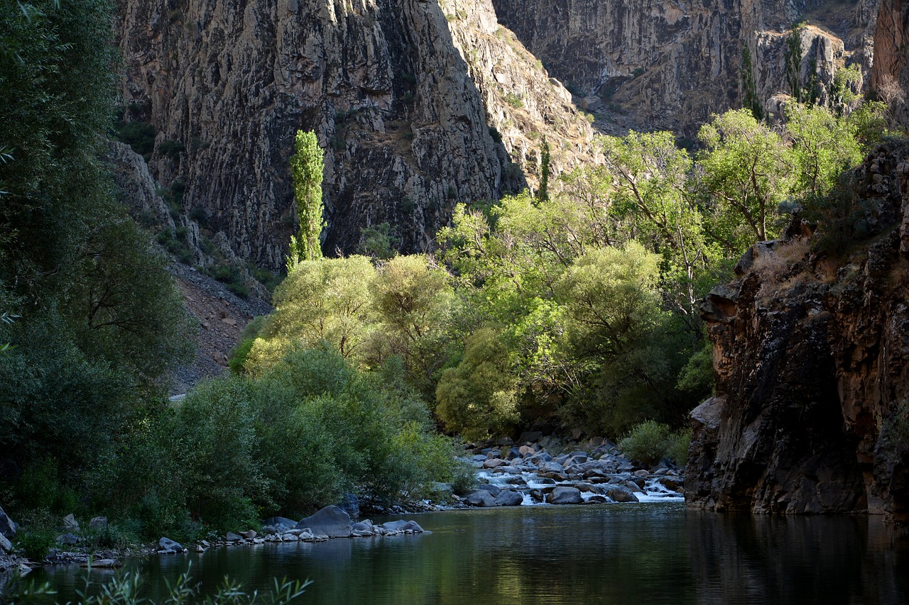
[[[744,104],[750,64],[761,104],[792,92],[786,54],[797,31],[798,85],[822,93],[847,62],[871,65],[879,0],[494,0],[502,23],[604,123],[694,134]],[[744,56],[747,49],[750,57]],[[794,66],[795,67],[795,66]]]

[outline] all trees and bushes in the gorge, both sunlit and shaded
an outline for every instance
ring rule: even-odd
[[[604,136],[601,165],[459,205],[436,257],[395,255],[380,225],[372,257],[346,258],[315,245],[322,161],[300,133],[301,229],[276,311],[232,377],[175,404],[164,382],[194,328],[102,160],[110,14],[0,3],[0,499],[35,552],[72,511],[107,511],[97,539],[115,544],[345,492],[419,497],[462,479],[436,425],[480,440],[554,422],[679,459],[671,427],[711,390],[699,301],[793,213],[848,234],[831,193],[884,133],[879,104],[792,103],[778,126],[714,116],[694,154],[668,133]]]

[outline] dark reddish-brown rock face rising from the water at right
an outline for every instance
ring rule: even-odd
[[[692,412],[689,506],[909,521],[909,144],[853,188],[854,252],[794,223],[705,302],[716,396]]]

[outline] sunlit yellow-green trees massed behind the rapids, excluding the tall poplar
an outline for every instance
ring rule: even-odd
[[[471,440],[538,420],[614,438],[678,426],[712,387],[704,295],[794,213],[849,223],[831,193],[884,127],[882,104],[793,102],[777,126],[714,116],[694,155],[670,133],[600,137],[604,163],[545,195],[459,205],[438,258],[298,263],[234,367],[255,376],[319,343],[365,371],[398,356]]]

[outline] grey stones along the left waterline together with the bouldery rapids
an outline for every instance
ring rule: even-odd
[[[564,442],[540,431],[524,432],[514,442],[504,438],[465,447],[463,460],[474,467],[474,490],[454,493],[448,483],[434,484],[434,499],[407,502],[388,509],[374,508],[376,514],[407,514],[496,506],[610,504],[616,502],[683,501],[684,477],[666,462],[651,469],[629,460],[613,443],[604,439]],[[348,499],[341,506],[327,506],[314,515],[295,521],[273,517],[261,530],[228,531],[224,536],[200,540],[189,547],[162,537],[156,544],[136,549],[88,550],[80,548],[80,528],[67,515],[57,538],[60,548],[51,550],[42,561],[26,560],[15,554],[10,538],[15,523],[0,509],[0,576],[29,571],[45,565],[119,567],[126,559],[154,554],[178,554],[190,550],[282,543],[327,541],[339,538],[393,537],[426,532],[416,521],[356,521],[359,506]],[[96,529],[107,520],[95,517]],[[67,549],[66,547],[74,547]]]

